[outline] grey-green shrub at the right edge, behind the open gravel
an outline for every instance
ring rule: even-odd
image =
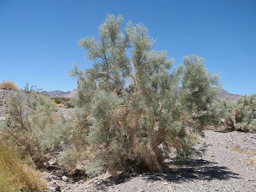
[[[221,101],[224,131],[256,131],[256,95]]]

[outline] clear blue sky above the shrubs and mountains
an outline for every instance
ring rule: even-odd
[[[143,22],[154,49],[174,58],[195,53],[234,94],[256,92],[256,1],[27,1],[0,0],[0,81],[44,90],[72,90],[73,62],[88,69],[77,41],[97,35],[106,14]]]

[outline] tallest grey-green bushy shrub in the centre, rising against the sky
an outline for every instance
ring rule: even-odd
[[[75,64],[71,71],[78,78],[75,127],[86,138],[81,146],[113,174],[130,166],[160,169],[168,152],[191,157],[192,133],[214,123],[211,103],[219,86],[202,58],[185,57],[171,69],[166,52],[151,49],[147,28],[129,22],[122,32],[122,23],[121,16],[108,15],[99,40],[80,40],[94,65],[82,71]]]

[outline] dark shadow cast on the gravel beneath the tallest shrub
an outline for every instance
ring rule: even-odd
[[[174,165],[174,166],[173,166]],[[172,167],[172,168],[170,168]],[[160,172],[146,172],[142,174],[143,179],[148,181],[165,181],[165,182],[187,182],[195,180],[212,179],[229,179],[240,178],[239,174],[229,171],[225,166],[218,166],[215,162],[210,162],[203,159],[196,159],[190,162],[176,162],[175,164],[169,164]],[[120,184],[129,181],[130,176],[121,176],[117,181],[104,181],[102,185],[98,186],[100,189],[113,184]]]

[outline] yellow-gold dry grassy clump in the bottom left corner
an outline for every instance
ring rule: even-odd
[[[0,144],[0,191],[42,191],[45,187],[39,172],[26,164],[13,146]]]

